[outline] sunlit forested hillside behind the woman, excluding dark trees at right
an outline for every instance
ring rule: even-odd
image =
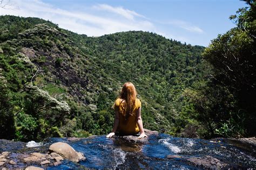
[[[178,134],[188,123],[183,91],[204,77],[204,47],[143,31],[87,37],[38,18],[0,16],[0,25],[0,85],[9,96],[1,109],[11,108],[2,117],[12,126],[0,138],[110,132],[126,81],[138,90],[145,128]]]

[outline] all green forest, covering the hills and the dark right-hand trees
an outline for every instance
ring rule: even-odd
[[[144,128],[181,137],[255,135],[255,2],[207,48],[156,33],[87,37],[39,18],[0,16],[0,138],[111,131],[130,81]]]

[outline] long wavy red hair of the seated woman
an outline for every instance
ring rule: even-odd
[[[127,120],[130,115],[133,113],[133,109],[135,107],[137,91],[134,85],[131,82],[124,83],[124,86],[121,90],[120,98],[125,105],[125,119]],[[121,103],[122,103],[121,102]]]

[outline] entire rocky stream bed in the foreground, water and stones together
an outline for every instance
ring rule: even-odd
[[[1,139],[0,169],[256,167],[255,138],[203,140],[145,131],[149,138],[49,138],[35,147]]]

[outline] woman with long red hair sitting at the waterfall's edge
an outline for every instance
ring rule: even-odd
[[[107,138],[114,136],[116,131],[122,134],[137,134],[139,138],[147,137],[142,123],[140,111],[142,109],[139,99],[136,97],[137,92],[131,82],[124,84],[119,98],[114,102],[113,109],[115,112],[114,127]]]

